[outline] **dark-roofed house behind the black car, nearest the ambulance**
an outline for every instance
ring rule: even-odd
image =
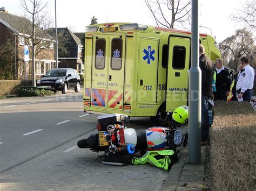
[[[82,48],[80,39],[68,27],[58,28],[58,67],[73,68],[83,74]],[[49,34],[55,36],[55,29],[49,29]]]

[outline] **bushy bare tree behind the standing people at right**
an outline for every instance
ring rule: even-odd
[[[239,59],[246,56],[250,63],[255,62],[255,38],[246,28],[235,31],[235,34],[219,44],[224,61],[232,69],[237,69]]]

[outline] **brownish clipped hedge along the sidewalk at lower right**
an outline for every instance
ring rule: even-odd
[[[255,190],[255,114],[247,102],[215,102],[210,146],[212,190]]]

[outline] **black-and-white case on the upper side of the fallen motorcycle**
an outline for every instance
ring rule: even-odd
[[[103,125],[109,125],[111,123],[126,122],[129,117],[121,114],[106,114],[98,117],[98,123]]]

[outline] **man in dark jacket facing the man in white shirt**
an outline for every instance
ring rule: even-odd
[[[230,72],[223,66],[223,59],[216,59],[216,91],[214,94],[214,100],[227,100],[227,96],[230,93]]]

